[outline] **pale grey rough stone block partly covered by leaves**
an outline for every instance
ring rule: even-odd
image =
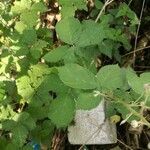
[[[104,102],[96,108],[77,110],[75,125],[68,127],[71,144],[111,144],[117,142],[116,126],[111,124],[104,113]]]

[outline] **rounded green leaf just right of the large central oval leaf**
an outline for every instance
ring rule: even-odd
[[[102,67],[97,73],[100,86],[114,90],[123,87],[124,76],[118,65],[107,65]]]

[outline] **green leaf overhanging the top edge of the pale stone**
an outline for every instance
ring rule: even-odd
[[[82,92],[76,100],[76,108],[90,110],[95,108],[101,101],[100,96],[95,96],[93,92]]]

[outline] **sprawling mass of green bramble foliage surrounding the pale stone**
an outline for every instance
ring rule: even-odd
[[[130,51],[129,35],[139,23],[126,3],[111,6],[95,0],[89,19],[75,18],[87,10],[85,0],[59,0],[61,20],[53,46],[52,31],[42,26],[47,11],[42,0],[0,2],[0,148],[32,149],[30,141],[50,147],[54,129],[66,128],[77,109],[108,101],[106,114],[119,112],[124,122],[150,127],[143,110],[150,107],[150,73],[138,76],[123,68],[120,48]],[[101,16],[97,18],[99,12]],[[95,21],[96,20],[96,21]],[[118,64],[102,66],[101,55]]]

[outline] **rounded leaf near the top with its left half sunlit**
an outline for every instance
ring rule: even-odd
[[[62,19],[57,23],[56,31],[63,42],[74,45],[79,40],[81,24],[75,18]]]

